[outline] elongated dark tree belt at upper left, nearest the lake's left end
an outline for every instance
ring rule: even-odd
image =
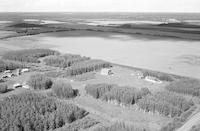
[[[25,49],[7,52],[2,58],[19,62],[39,63],[38,58],[56,54],[58,54],[57,51],[50,49]]]

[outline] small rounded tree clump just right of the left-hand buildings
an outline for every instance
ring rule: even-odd
[[[50,78],[46,77],[44,74],[33,74],[30,76],[27,84],[33,89],[49,89],[51,88],[53,82]]]

